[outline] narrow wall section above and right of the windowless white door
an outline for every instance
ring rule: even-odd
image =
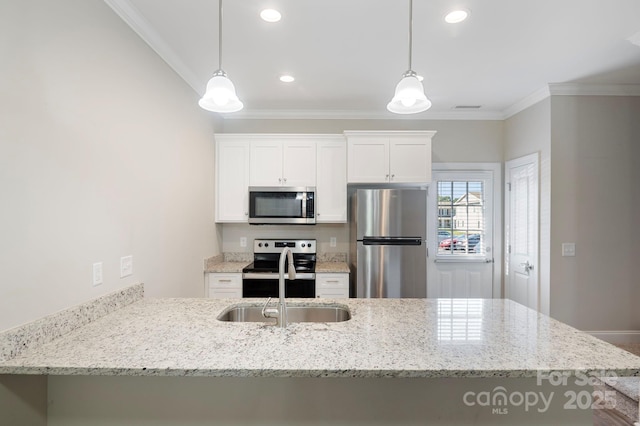
[[[551,101],[549,98],[505,120],[505,161],[539,153],[539,265],[540,312],[549,314],[551,304]]]

